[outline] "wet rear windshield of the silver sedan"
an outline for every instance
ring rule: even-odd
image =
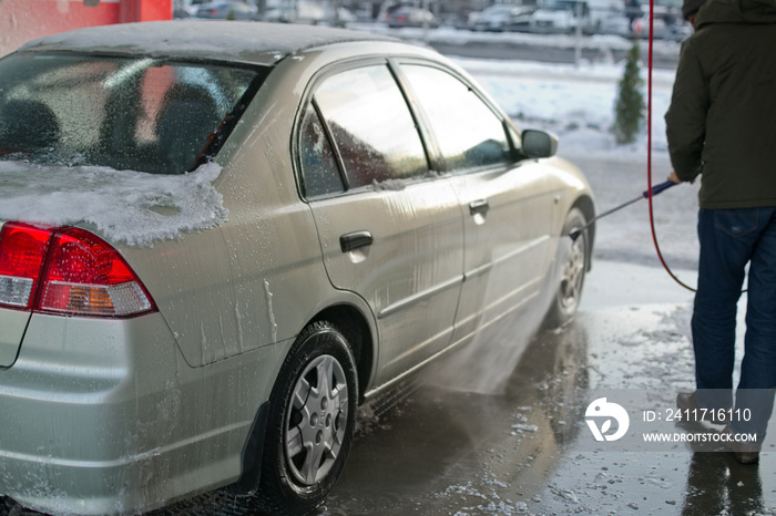
[[[267,70],[152,58],[0,60],[0,159],[182,174],[215,155]]]

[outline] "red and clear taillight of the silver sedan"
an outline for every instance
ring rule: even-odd
[[[98,236],[18,223],[0,233],[0,306],[102,317],[155,310],[140,278]]]

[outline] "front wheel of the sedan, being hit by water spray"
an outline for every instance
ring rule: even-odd
[[[544,328],[560,328],[571,322],[582,300],[590,239],[586,230],[573,240],[569,235],[585,224],[584,214],[579,208],[572,208],[565,217],[558,251],[559,272],[557,279],[553,278],[557,289],[544,318]]]

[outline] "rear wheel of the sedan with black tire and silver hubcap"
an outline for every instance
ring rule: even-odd
[[[328,322],[306,328],[273,388],[257,508],[300,515],[324,502],[345,467],[357,400],[345,337]]]

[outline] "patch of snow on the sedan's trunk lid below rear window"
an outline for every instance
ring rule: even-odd
[[[226,221],[215,163],[182,175],[0,162],[0,219],[93,225],[111,241],[149,246]]]

